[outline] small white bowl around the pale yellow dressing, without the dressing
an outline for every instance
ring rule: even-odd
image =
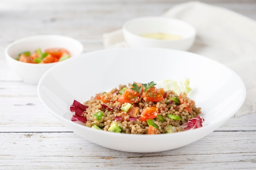
[[[190,24],[166,17],[142,17],[128,20],[123,25],[124,39],[131,47],[158,47],[189,50],[195,41],[196,30]],[[164,33],[180,36],[177,40],[145,38],[148,33]]]

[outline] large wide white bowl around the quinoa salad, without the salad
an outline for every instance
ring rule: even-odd
[[[189,97],[202,108],[205,121],[201,128],[171,134],[131,135],[95,130],[71,121],[70,105],[74,99],[83,103],[97,93],[134,81],[179,82],[186,77],[193,89]],[[56,119],[89,141],[127,152],[158,152],[191,144],[224,124],[243,104],[245,85],[231,69],[194,53],[125,48],[84,53],[63,61],[40,79],[38,96]]]

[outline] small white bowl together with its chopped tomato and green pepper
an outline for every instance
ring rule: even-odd
[[[29,84],[38,84],[42,75],[63,60],[83,52],[83,44],[63,35],[35,35],[15,40],[5,49],[10,68]]]

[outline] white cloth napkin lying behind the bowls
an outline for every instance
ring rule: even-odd
[[[247,94],[235,116],[256,112],[256,21],[202,2],[177,4],[163,16],[193,25],[197,38],[189,51],[225,64],[243,79]],[[106,48],[128,46],[121,29],[105,33],[103,43]]]

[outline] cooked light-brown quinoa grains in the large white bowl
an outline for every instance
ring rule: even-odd
[[[87,119],[84,125],[88,127],[95,127],[96,125],[99,129],[111,131],[110,126],[115,124],[119,126],[121,133],[160,134],[170,132],[170,127],[171,132],[184,131],[182,124],[201,114],[201,108],[197,108],[195,102],[187,97],[186,93],[175,94],[174,91],[163,91],[163,89],[162,93],[160,93],[160,90],[154,87],[157,91],[155,91],[155,93],[159,96],[160,94],[163,96],[162,100],[157,102],[149,101],[149,94],[152,95],[151,93],[148,93],[148,96],[146,97],[137,93],[139,94],[139,100],[131,102],[131,108],[133,108],[135,112],[130,116],[131,113],[129,113],[129,110],[131,108],[129,108],[128,111],[121,109],[129,102],[120,102],[121,100],[119,98],[121,98],[122,95],[124,96],[124,94],[119,94],[119,92],[124,91],[126,88],[131,91],[134,84],[128,84],[128,86],[119,85],[118,88],[113,88],[108,93],[99,93],[96,96],[91,97],[90,100],[84,102],[83,104],[88,106],[83,113],[84,117]],[[139,86],[141,86],[141,84]],[[144,86],[141,87],[142,89],[145,88]],[[153,87],[148,91],[152,90],[152,88]],[[127,92],[127,89],[125,92]],[[156,112],[151,115],[153,117],[150,118],[150,120],[153,121],[154,126],[153,131],[151,128],[150,132],[148,118],[146,117],[141,121],[141,114],[143,114],[143,111],[147,107],[152,107],[156,110]],[[95,113],[102,113],[99,120],[95,117]],[[168,116],[170,114],[180,118],[168,118],[170,117]]]

